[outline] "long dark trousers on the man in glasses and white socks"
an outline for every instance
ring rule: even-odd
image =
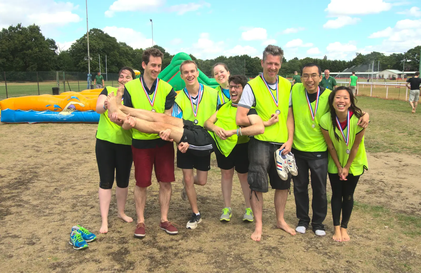
[[[328,159],[306,159],[295,157],[298,168],[298,175],[293,176],[294,197],[298,226],[309,227],[309,170],[311,186],[313,190],[312,199],[312,230],[325,230],[323,221],[328,213],[328,200],[326,197],[326,183],[328,177]]]

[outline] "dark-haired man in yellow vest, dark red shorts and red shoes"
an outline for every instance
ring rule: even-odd
[[[142,54],[144,74],[125,84],[124,106],[145,109],[152,112],[171,115],[176,97],[173,87],[158,79],[164,54],[157,48],[149,48]],[[133,130],[132,152],[136,186],[134,201],[136,205],[137,225],[135,236],[145,236],[144,209],[146,188],[152,185],[152,169],[159,183],[159,203],[161,209],[160,228],[167,233],[178,233],[168,221],[168,209],[171,199],[171,182],[174,176],[174,146],[160,139],[157,133],[142,133]]]

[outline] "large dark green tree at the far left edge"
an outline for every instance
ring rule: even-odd
[[[13,25],[0,31],[0,71],[50,71],[55,68],[57,46],[45,39],[35,24]]]

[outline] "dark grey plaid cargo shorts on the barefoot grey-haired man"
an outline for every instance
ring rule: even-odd
[[[250,138],[248,145],[250,164],[248,166],[247,181],[251,190],[268,192],[269,183],[276,190],[288,190],[291,187],[291,174],[288,172],[288,179],[282,180],[276,171],[274,152],[281,146],[282,144]]]

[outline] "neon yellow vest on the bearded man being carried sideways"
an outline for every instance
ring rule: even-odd
[[[224,130],[237,130],[239,127],[235,124],[235,114],[237,113],[237,107],[232,106],[232,101],[225,103],[216,113],[216,118],[218,119],[215,122],[215,125],[221,127]],[[248,137],[246,135],[237,136],[234,134],[222,140],[218,137],[213,131],[208,131],[210,136],[215,140],[216,146],[218,146],[219,151],[221,151],[224,156],[229,156],[232,149],[235,145],[240,143],[248,142]]]

